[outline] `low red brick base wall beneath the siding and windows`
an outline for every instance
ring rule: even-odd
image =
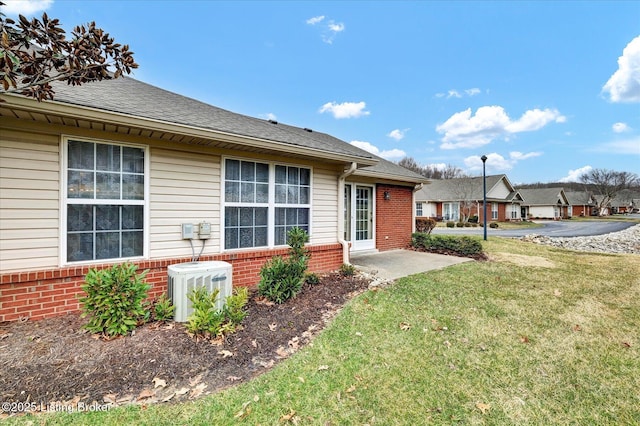
[[[309,246],[309,270],[328,272],[342,265],[342,246],[327,244]],[[260,268],[274,255],[285,255],[288,248],[202,256],[201,261],[222,260],[233,265],[233,285],[252,287],[260,280]],[[146,281],[151,284],[150,297],[167,291],[167,267],[190,259],[163,259],[135,262],[138,271],[149,270]],[[106,268],[110,264],[73,266],[60,269],[8,273],[0,275],[0,322],[20,318],[38,320],[80,309],[80,286],[90,268]]]

